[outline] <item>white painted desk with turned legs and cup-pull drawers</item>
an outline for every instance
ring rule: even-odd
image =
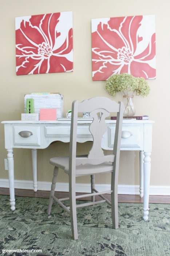
[[[5,129],[5,148],[9,175],[11,210],[15,210],[13,148],[32,149],[33,188],[37,191],[37,149],[47,148],[51,142],[70,141],[70,121],[3,121]],[[77,142],[92,141],[88,129],[91,121],[78,121]],[[114,144],[115,120],[106,120],[108,129],[103,135],[102,148],[112,150]],[[149,214],[149,183],[152,149],[152,125],[150,120],[123,120],[121,150],[139,151],[140,157],[140,196],[143,197],[143,219]],[[21,131],[30,131],[23,138]]]

